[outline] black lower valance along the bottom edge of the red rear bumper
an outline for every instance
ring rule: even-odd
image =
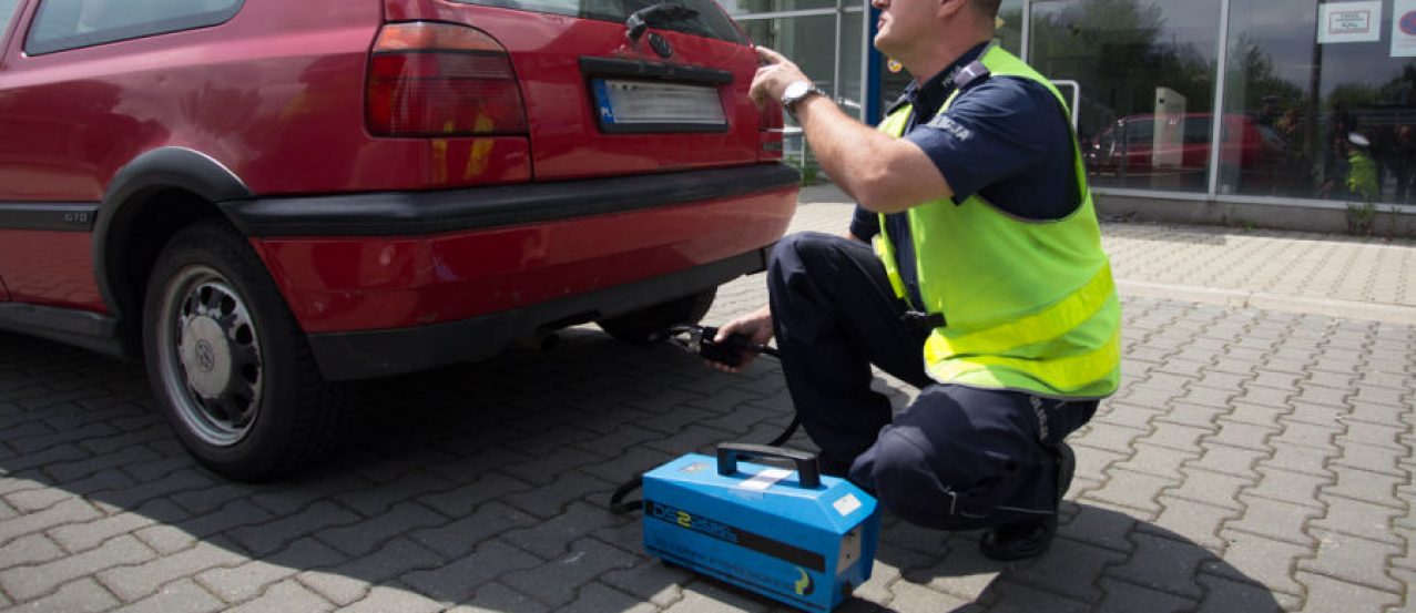
[[[310,334],[310,348],[320,372],[329,381],[396,375],[483,360],[547,328],[622,314],[760,272],[766,269],[769,249],[770,246],[671,275],[460,321]]]

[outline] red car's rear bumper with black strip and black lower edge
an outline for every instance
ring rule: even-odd
[[[796,208],[780,164],[224,202],[323,374],[353,379],[497,353],[762,270]]]

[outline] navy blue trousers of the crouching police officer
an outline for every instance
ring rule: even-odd
[[[1096,401],[942,385],[925,374],[929,336],[901,320],[869,245],[818,232],[777,244],[767,266],[773,328],[792,402],[821,449],[901,518],[973,529],[1056,511],[1052,449]],[[871,389],[871,365],[920,389],[899,415]]]

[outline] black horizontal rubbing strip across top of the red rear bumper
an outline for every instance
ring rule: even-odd
[[[445,191],[221,202],[248,236],[391,236],[535,224],[794,187],[796,168],[753,164]]]

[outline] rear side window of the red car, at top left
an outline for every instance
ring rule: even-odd
[[[40,55],[215,25],[235,16],[242,1],[44,0],[24,41],[24,52]]]

